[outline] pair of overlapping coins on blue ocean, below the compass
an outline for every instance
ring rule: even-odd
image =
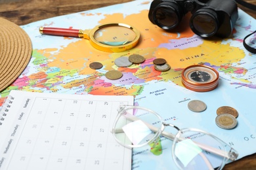
[[[219,107],[217,109],[217,115],[215,123],[223,129],[233,129],[238,124],[236,120],[238,117],[238,111],[232,107]]]

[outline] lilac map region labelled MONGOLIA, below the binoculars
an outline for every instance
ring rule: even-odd
[[[168,50],[179,48],[179,49],[186,49],[199,46],[203,43],[201,37],[198,35],[194,35],[190,38],[182,38],[182,39],[170,39],[168,43],[163,43],[158,46],[158,48],[167,48]]]

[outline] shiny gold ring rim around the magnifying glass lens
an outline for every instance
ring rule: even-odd
[[[102,43],[96,41],[96,39],[94,37],[96,31],[98,31],[98,29],[101,29],[103,27],[110,27],[110,26],[127,27],[127,28],[133,30],[136,37],[133,41],[131,41],[127,44],[119,45],[119,46],[106,45],[106,44],[102,44]],[[84,37],[87,37],[87,36],[84,36]],[[131,25],[128,25],[128,24],[122,24],[122,23],[101,24],[101,25],[94,27],[89,32],[89,41],[90,41],[91,45],[94,48],[104,51],[104,52],[123,52],[123,51],[129,50],[137,45],[137,43],[139,42],[139,39],[140,39],[140,33],[137,29],[135,29],[135,27],[132,27]]]

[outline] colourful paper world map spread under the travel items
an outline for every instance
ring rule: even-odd
[[[138,0],[58,16],[21,27],[32,39],[32,59],[22,75],[0,93],[0,106],[11,90],[42,93],[71,93],[77,95],[133,95],[135,105],[158,112],[163,120],[176,126],[196,127],[216,135],[238,150],[239,158],[256,152],[256,56],[242,45],[246,35],[256,29],[256,21],[244,11],[226,39],[202,39],[189,27],[191,14],[186,14],[173,31],[164,31],[148,20],[152,1]],[[93,29],[106,23],[125,23],[136,27],[140,41],[135,48],[117,53],[96,50],[86,39],[41,35],[39,27]],[[117,67],[114,61],[121,56],[139,54],[146,60],[129,67]],[[154,69],[153,60],[164,58],[169,71]],[[102,69],[91,69],[98,61]],[[202,64],[219,72],[219,86],[211,92],[193,92],[181,83],[182,69]],[[106,72],[118,70],[118,80],[106,78]],[[206,103],[204,112],[192,112],[189,101]],[[234,107],[239,112],[238,126],[232,130],[215,124],[216,110],[221,106]],[[241,133],[243,132],[243,133]],[[171,141],[161,139],[161,149],[133,150],[132,169],[175,168],[171,160]]]

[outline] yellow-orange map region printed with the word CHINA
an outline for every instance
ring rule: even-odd
[[[173,69],[185,68],[192,64],[210,63],[223,65],[223,63],[236,63],[244,58],[245,54],[240,48],[231,48],[229,44],[203,41],[202,45],[185,49],[158,48],[155,54],[158,58],[165,58]]]

